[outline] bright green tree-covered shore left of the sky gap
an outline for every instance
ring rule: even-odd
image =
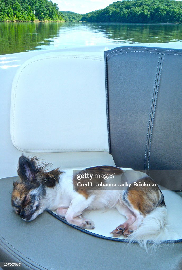
[[[0,21],[64,21],[58,5],[48,0],[0,0]]]

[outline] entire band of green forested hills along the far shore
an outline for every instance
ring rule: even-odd
[[[127,23],[182,23],[182,1],[123,0],[104,9],[78,14],[59,11],[48,0],[0,0],[0,21],[87,21]]]

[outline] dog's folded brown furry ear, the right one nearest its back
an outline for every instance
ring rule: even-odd
[[[55,185],[59,183],[60,174],[62,174],[62,172],[59,171],[59,168],[44,173],[44,180],[43,180],[44,185],[46,187],[55,187]]]

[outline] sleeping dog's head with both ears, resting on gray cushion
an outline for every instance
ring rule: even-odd
[[[47,164],[38,162],[37,157],[22,155],[19,158],[17,172],[20,180],[13,183],[11,204],[25,221],[34,220],[45,210],[46,188],[54,188],[59,182],[62,172],[59,169],[47,171],[46,168]]]

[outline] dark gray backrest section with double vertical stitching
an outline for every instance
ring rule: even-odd
[[[157,183],[181,190],[182,50],[120,47],[106,56],[116,166],[145,170]]]

